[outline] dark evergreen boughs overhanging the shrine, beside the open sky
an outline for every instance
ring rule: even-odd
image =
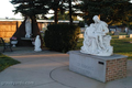
[[[48,0],[12,0],[11,3],[16,6],[14,12],[21,12],[24,16],[36,16],[46,14],[50,8]]]

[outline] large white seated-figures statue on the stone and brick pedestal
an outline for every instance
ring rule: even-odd
[[[92,18],[95,23],[88,26],[84,34],[84,42],[80,48],[81,53],[98,55],[98,56],[110,56],[113,53],[113,47],[110,45],[110,35],[106,35],[108,30],[108,24],[100,21],[98,15]]]

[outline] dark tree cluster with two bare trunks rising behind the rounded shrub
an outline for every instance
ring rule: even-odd
[[[72,2],[76,3],[79,0],[53,0],[53,2],[51,3],[51,9],[54,10],[54,20],[55,23],[57,23],[58,21],[58,13],[61,11],[61,14],[64,14],[65,11],[68,11],[68,15],[69,15],[69,22],[70,24],[73,24],[73,15],[74,12],[77,11],[77,6],[76,4],[72,4]],[[76,6],[76,7],[75,7]]]

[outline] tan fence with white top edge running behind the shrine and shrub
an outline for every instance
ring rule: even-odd
[[[23,20],[0,20],[0,37],[3,37],[7,42],[15,33],[16,29],[21,25]],[[48,23],[53,23],[54,20],[37,20],[40,31],[45,31]],[[61,23],[68,23],[69,21],[59,21]],[[79,23],[79,21],[74,21]]]

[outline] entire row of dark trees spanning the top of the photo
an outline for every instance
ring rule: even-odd
[[[37,16],[54,10],[55,23],[58,22],[58,12],[69,12],[70,24],[72,15],[79,15],[85,22],[92,22],[94,15],[100,15],[101,20],[109,24],[122,22],[130,23],[132,21],[132,3],[130,0],[11,0],[15,6],[14,12],[21,12],[24,16]],[[82,13],[76,13],[81,11]]]

